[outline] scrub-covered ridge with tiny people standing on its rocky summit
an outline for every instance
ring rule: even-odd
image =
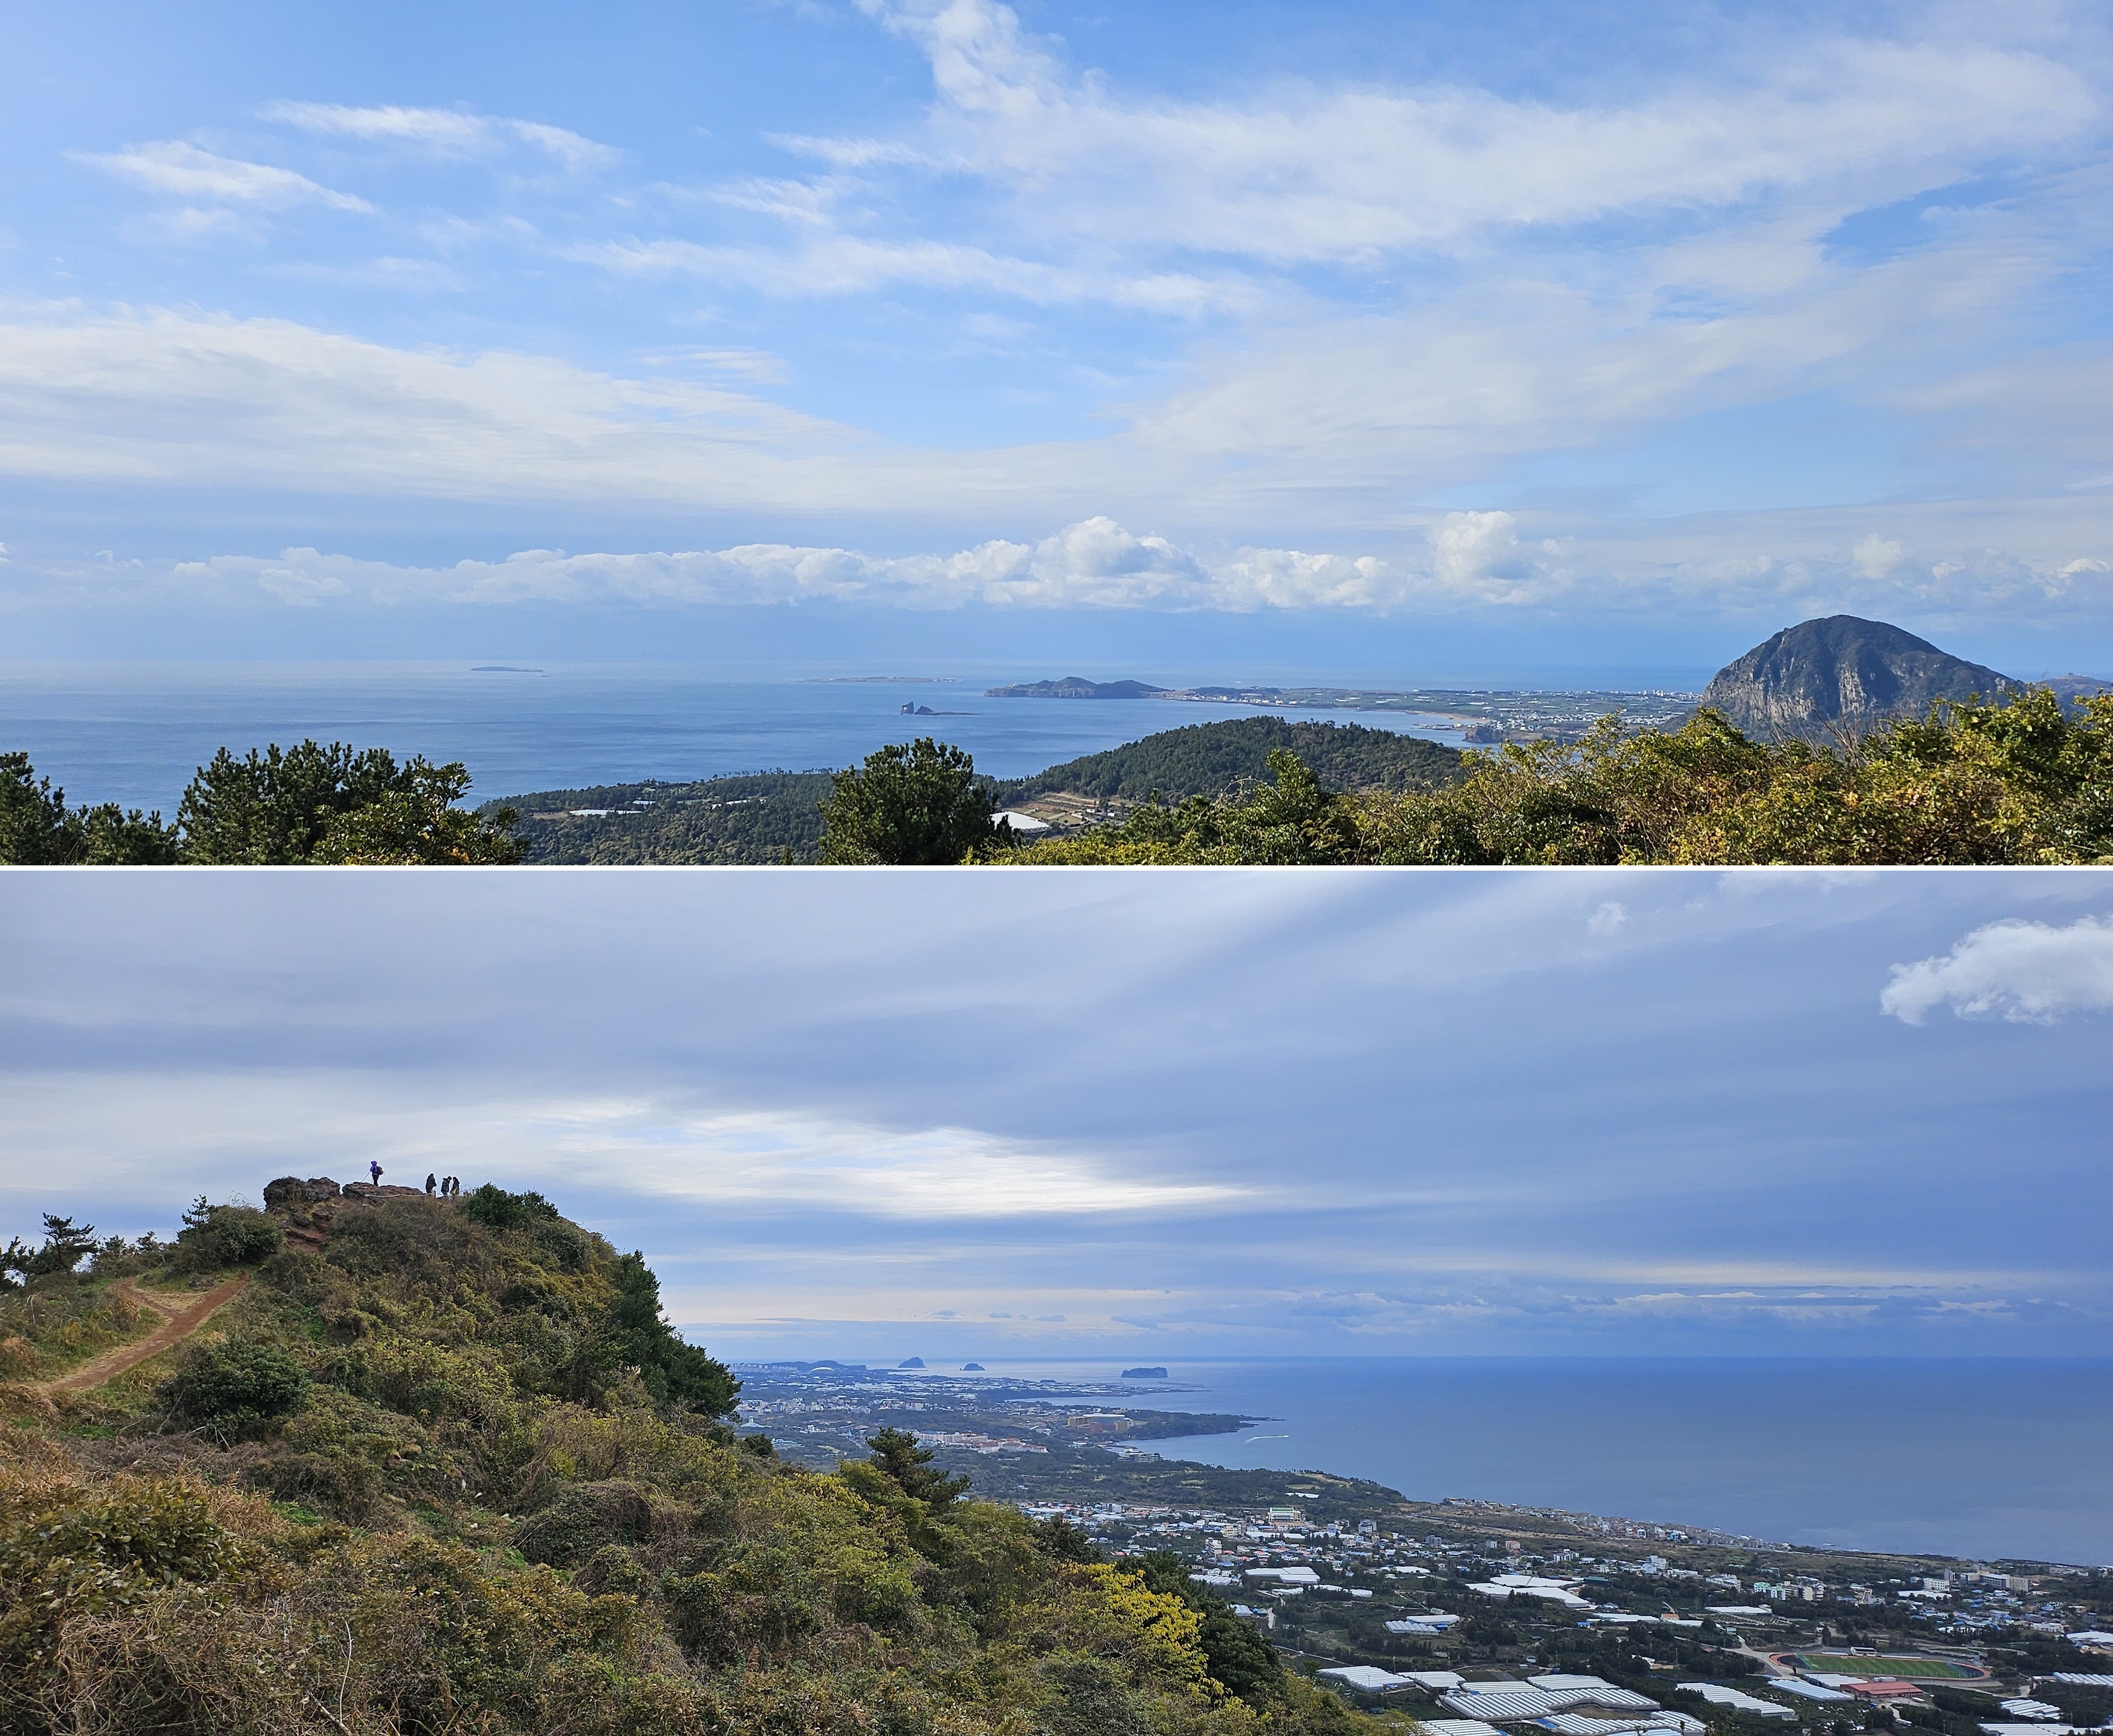
[[[266,1197],[0,1257],[8,1732],[1365,1725],[1166,1563],[978,1502],[913,1436],[830,1472],[742,1436],[647,1263],[535,1193]],[[173,1354],[59,1385],[222,1286]]]

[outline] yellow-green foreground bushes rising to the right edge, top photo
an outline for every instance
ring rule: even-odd
[[[1756,741],[1712,710],[1678,731],[1509,743],[1431,790],[1274,781],[1147,805],[978,860],[1071,864],[2098,864],[2113,860],[2113,697],[1940,703],[1838,746]]]

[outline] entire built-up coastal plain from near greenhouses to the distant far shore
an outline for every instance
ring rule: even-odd
[[[906,1428],[978,1493],[1061,1518],[1114,1561],[1173,1552],[1287,1664],[1431,1736],[2113,1728],[2107,1567],[1800,1548],[1217,1470],[1141,1445],[1251,1421],[1158,1409],[1171,1383],[911,1362],[742,1366],[744,1426],[816,1466]]]

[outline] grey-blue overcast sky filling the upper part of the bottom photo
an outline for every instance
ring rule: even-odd
[[[38,874],[0,1212],[537,1187],[729,1354],[2098,1354],[2088,872]]]

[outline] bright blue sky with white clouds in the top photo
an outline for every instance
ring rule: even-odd
[[[0,65],[21,657],[2113,663],[2098,6],[80,0]]]

